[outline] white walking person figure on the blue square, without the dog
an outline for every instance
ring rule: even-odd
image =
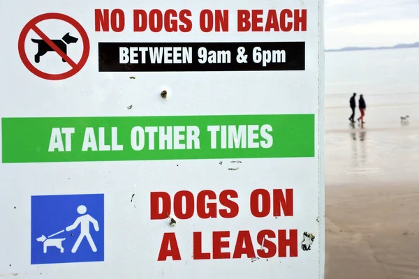
[[[77,252],[80,243],[82,243],[82,240],[84,238],[84,236],[86,236],[87,241],[89,241],[91,250],[93,250],[93,252],[97,251],[96,246],[94,245],[94,241],[93,239],[91,239],[91,235],[89,232],[90,229],[90,223],[93,224],[94,230],[96,232],[99,231],[99,225],[98,225],[98,221],[96,221],[93,217],[91,217],[89,214],[85,214],[84,213],[87,212],[87,208],[84,205],[80,205],[77,208],[77,212],[82,215],[80,217],[78,217],[73,225],[70,225],[68,227],[66,227],[66,231],[71,231],[73,229],[75,229],[76,227],[78,227],[78,225],[80,224],[81,228],[80,228],[80,236],[78,237],[77,241],[75,241],[73,249],[71,249],[71,252],[75,253]]]

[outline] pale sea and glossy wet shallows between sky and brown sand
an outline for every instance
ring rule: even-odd
[[[326,185],[419,181],[419,48],[325,53],[325,165]]]

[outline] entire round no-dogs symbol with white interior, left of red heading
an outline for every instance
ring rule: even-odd
[[[47,34],[41,30],[41,27],[36,26],[36,24],[41,25],[44,22],[52,22],[52,20],[59,20],[68,26],[58,38],[47,36]],[[72,33],[69,32],[68,29],[75,29],[77,32]],[[30,40],[27,40],[29,31],[34,31],[39,38],[29,37]],[[34,52],[34,54],[28,54],[27,52],[26,47],[27,44],[29,44],[28,41],[33,45],[32,47],[36,47],[36,52]],[[82,45],[82,55],[78,63],[76,63],[71,58],[71,50],[72,47],[79,44]],[[34,73],[34,75],[45,80],[65,80],[82,69],[89,57],[90,45],[86,31],[80,23],[72,17],[61,13],[45,13],[34,17],[23,27],[19,36],[18,49],[20,59],[22,59],[24,66],[26,66],[31,73]],[[46,59],[48,59],[48,61],[46,61]],[[59,63],[68,64],[71,69],[64,71],[64,73],[46,73],[46,71],[39,69],[43,64],[43,61],[44,63],[48,63],[47,68],[49,69],[54,68],[54,65],[56,65],[57,68],[62,68]]]

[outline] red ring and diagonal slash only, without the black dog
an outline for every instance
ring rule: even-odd
[[[82,36],[83,41],[83,53],[82,58],[78,63],[75,63],[70,57],[68,57],[64,52],[62,52],[57,45],[52,43],[52,40],[48,38],[41,29],[36,27],[36,24],[39,22],[42,22],[44,20],[63,20],[64,22],[67,22],[77,31],[80,33],[80,36]],[[61,56],[62,59],[66,60],[66,62],[71,66],[71,70],[68,70],[65,73],[61,74],[50,74],[45,73],[42,70],[39,70],[36,68],[28,59],[27,53],[24,49],[24,41],[26,40],[29,31],[34,30],[34,32],[41,37],[47,43],[52,50],[57,52],[59,56]],[[89,51],[90,51],[90,45],[89,45],[89,37],[87,36],[86,31],[84,28],[78,23],[73,17],[69,17],[68,15],[63,15],[61,13],[44,13],[43,15],[38,15],[37,17],[34,17],[32,20],[30,20],[22,29],[19,36],[19,42],[18,42],[18,50],[20,59],[22,59],[22,62],[24,63],[24,66],[28,68],[34,75],[37,75],[38,77],[42,77],[45,80],[65,80],[68,77],[72,77],[78,71],[80,71],[84,64],[87,62],[87,58],[89,57]]]

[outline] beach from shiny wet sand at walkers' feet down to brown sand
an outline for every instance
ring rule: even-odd
[[[326,278],[418,279],[419,103],[349,114],[326,107]]]

